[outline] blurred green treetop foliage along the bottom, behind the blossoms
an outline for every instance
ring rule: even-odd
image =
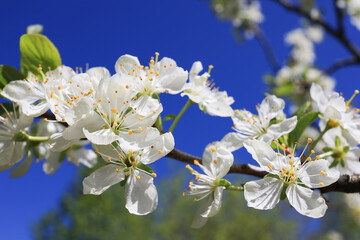
[[[296,239],[296,223],[281,220],[281,208],[248,208],[242,192],[226,191],[219,214],[202,229],[192,229],[191,222],[202,202],[193,203],[191,197],[181,196],[182,177],[172,176],[156,183],[159,207],[147,216],[128,213],[124,188],[119,185],[100,196],[83,195],[79,184],[82,178],[74,181],[57,209],[34,225],[34,239]]]

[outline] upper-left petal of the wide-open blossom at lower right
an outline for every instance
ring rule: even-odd
[[[265,171],[271,171],[269,164],[272,165],[272,169],[280,170],[278,156],[269,144],[259,140],[248,140],[244,143],[244,147]]]

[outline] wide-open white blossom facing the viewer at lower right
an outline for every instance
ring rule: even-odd
[[[244,146],[260,167],[272,174],[245,184],[244,196],[249,207],[272,209],[285,194],[302,215],[324,216],[325,200],[311,188],[325,187],[338,180],[339,172],[329,169],[328,161],[307,159],[302,163],[301,156],[275,153],[269,144],[259,140],[249,140]]]

